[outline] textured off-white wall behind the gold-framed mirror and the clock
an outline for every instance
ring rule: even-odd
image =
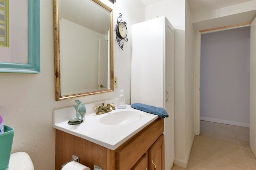
[[[144,21],[144,6],[138,0],[117,0],[114,5],[108,0],[102,2],[114,9],[114,24],[119,12],[128,23],[128,42],[124,51],[114,42],[114,75],[118,76],[118,88],[114,92],[76,99],[83,103],[112,99],[118,97],[119,89],[124,89],[126,103],[130,104],[130,30],[133,23]],[[52,111],[73,106],[75,99],[55,101],[52,0],[40,1],[40,16],[41,73],[0,73],[0,114],[4,124],[15,129],[12,152],[27,152],[35,170],[54,170]]]

